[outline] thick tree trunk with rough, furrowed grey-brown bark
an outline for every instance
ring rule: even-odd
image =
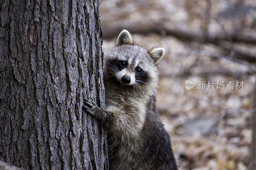
[[[25,169],[108,169],[99,1],[0,0],[0,160]]]

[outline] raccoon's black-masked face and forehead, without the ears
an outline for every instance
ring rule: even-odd
[[[132,46],[127,46],[124,49],[117,49],[116,56],[105,62],[109,76],[123,85],[147,84],[149,78],[154,74],[149,68],[150,66],[150,69],[155,70],[155,68],[152,68],[152,61],[148,60],[149,55],[147,54],[147,51],[144,51],[143,54],[138,53],[138,50],[140,49],[134,49]],[[128,51],[130,52],[127,53]]]

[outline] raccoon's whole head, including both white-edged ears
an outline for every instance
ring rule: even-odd
[[[157,83],[156,63],[164,55],[163,48],[152,51],[134,45],[126,30],[117,39],[116,46],[104,55],[104,76],[114,83],[141,87]]]

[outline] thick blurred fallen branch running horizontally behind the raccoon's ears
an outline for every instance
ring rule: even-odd
[[[204,31],[202,30],[191,30],[186,24],[182,23],[168,23],[166,18],[159,18],[158,20],[153,19],[144,19],[140,21],[120,21],[104,25],[102,23],[101,28],[103,30],[104,38],[113,38],[118,35],[120,31],[124,28],[127,29],[130,33],[140,33],[140,34],[149,34],[157,33],[162,34],[164,31],[165,35],[172,35],[181,40],[188,41],[199,41],[205,40],[212,44],[218,45],[219,41],[227,40],[229,38],[227,35],[208,35],[204,39]],[[245,42],[245,43],[256,43],[256,37],[244,36],[241,33],[231,34],[230,39],[232,42]]]

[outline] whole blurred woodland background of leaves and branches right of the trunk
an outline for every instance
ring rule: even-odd
[[[180,170],[255,168],[255,0],[101,0],[100,20],[103,50],[122,29],[165,48],[157,108]]]

